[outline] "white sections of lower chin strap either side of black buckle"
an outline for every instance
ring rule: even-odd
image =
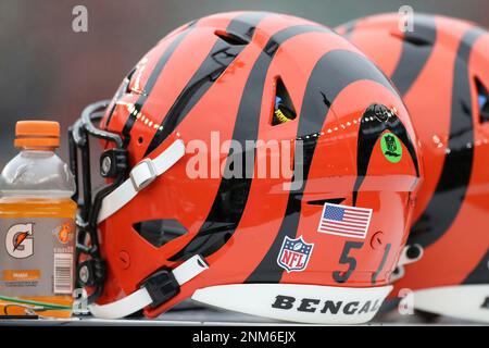
[[[181,286],[205,271],[208,268],[209,265],[200,256],[193,256],[173,270],[172,274],[178,285]],[[153,299],[151,298],[151,295],[146,287],[141,287],[139,290],[136,290],[118,301],[108,304],[90,304],[88,309],[96,318],[113,320],[130,315],[152,303]]]

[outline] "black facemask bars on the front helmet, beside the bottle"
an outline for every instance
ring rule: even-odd
[[[104,100],[88,105],[82,112],[80,119],[68,129],[70,166],[77,187],[73,199],[79,208],[76,216],[76,284],[79,287],[93,288],[93,293],[88,297],[89,302],[102,294],[106,275],[105,262],[100,253],[97,217],[103,198],[124,182],[128,169],[124,139],[96,126],[102,120],[109,103],[109,100]],[[91,187],[90,137],[113,145],[100,157],[100,174],[111,178],[111,184],[95,195]]]

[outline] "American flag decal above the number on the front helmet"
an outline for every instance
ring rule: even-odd
[[[317,232],[365,239],[372,209],[325,203]]]

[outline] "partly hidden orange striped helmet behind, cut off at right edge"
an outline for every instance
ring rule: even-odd
[[[393,294],[413,289],[418,310],[489,322],[489,33],[424,14],[402,32],[406,20],[338,28],[392,78],[422,142],[425,179],[401,260],[410,264]]]

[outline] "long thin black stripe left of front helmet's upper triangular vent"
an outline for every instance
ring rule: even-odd
[[[298,25],[285,28],[267,41],[256,59],[244,86],[233,132],[233,140],[239,142],[244,151],[254,152],[255,150],[254,147],[247,147],[247,140],[255,141],[258,138],[265,78],[275,53],[280,45],[288,39],[313,32],[330,33],[330,29],[316,25]],[[229,153],[228,156],[226,167],[229,166],[231,154]],[[253,159],[255,153],[252,154]],[[183,260],[189,254],[195,253],[204,257],[209,256],[218,250],[235,233],[247,206],[252,183],[250,171],[253,171],[254,165],[247,167],[244,164],[242,166],[241,177],[233,176],[222,178],[204,224],[192,240],[183,250],[172,257],[171,260]]]

